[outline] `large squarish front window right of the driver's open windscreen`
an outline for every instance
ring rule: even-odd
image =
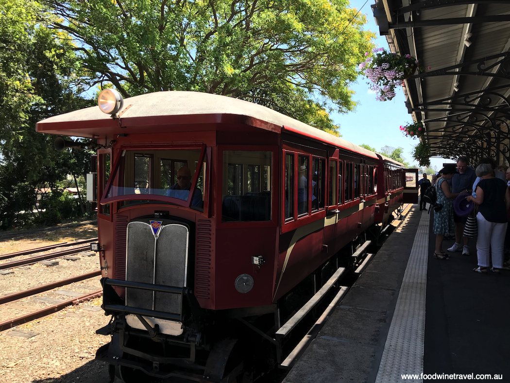
[[[223,151],[222,222],[271,221],[272,152]]]

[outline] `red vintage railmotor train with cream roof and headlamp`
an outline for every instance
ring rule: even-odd
[[[96,358],[112,381],[246,382],[278,367],[292,345],[277,330],[406,197],[402,163],[222,95],[105,89],[36,130],[97,153],[87,196],[111,321]]]

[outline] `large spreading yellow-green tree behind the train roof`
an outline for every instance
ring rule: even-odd
[[[90,85],[223,94],[334,133],[328,111],[353,110],[349,83],[375,37],[347,0],[48,1]]]

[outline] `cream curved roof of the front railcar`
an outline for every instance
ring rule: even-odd
[[[331,143],[367,157],[377,158],[369,150],[265,106],[218,94],[187,91],[154,92],[124,99],[124,108],[129,105],[132,106],[121,116],[123,126],[129,126],[130,120],[139,122],[143,117],[222,114],[247,116],[276,125],[279,128],[283,127],[284,130],[293,133]],[[80,129],[73,128],[72,134],[69,134],[69,130],[64,129],[63,124],[77,124],[78,126],[78,123],[83,122],[89,122],[90,124],[87,124],[89,127],[91,125],[97,125],[98,127],[107,126],[111,125],[112,117],[101,112],[98,106],[93,106],[43,119],[37,123],[36,129],[38,132],[81,136]],[[81,124],[79,125],[81,126]],[[261,126],[261,128],[264,128],[264,126]]]

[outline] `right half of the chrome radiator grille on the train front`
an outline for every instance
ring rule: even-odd
[[[156,284],[186,286],[188,234],[188,228],[180,224],[169,224],[161,228],[156,243]],[[180,313],[181,299],[180,295],[156,292],[154,309]]]

